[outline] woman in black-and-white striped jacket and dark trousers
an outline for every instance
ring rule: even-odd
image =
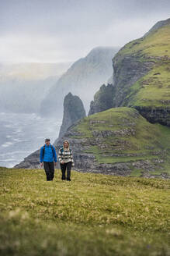
[[[63,147],[58,151],[58,159],[61,165],[61,180],[65,179],[65,172],[67,169],[67,180],[71,181],[71,166],[74,166],[74,160],[72,155],[72,150],[69,147],[69,141],[64,140]]]

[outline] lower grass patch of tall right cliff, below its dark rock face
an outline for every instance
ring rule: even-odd
[[[170,108],[170,61],[155,65],[130,87],[124,105]]]

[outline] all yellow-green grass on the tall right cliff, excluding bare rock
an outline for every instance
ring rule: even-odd
[[[130,87],[123,105],[169,108],[170,24],[126,44],[116,58],[126,55],[134,56],[137,62],[154,62],[154,65]]]

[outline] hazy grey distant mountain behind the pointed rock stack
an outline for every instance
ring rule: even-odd
[[[82,99],[88,111],[93,95],[113,73],[112,58],[117,51],[118,48],[98,47],[92,49],[85,58],[78,59],[50,88],[42,102],[41,113],[62,118],[64,97],[69,91]]]

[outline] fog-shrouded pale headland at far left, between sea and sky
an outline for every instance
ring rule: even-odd
[[[0,108],[2,112],[38,113],[50,87],[68,69],[65,63],[1,63]]]

